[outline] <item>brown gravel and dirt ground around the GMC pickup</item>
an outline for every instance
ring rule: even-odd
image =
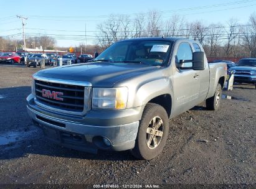
[[[172,119],[163,153],[146,161],[134,159],[129,151],[87,154],[46,141],[26,112],[31,75],[37,70],[0,65],[1,184],[256,187],[254,86],[224,91],[235,99],[222,99],[219,111],[200,104]]]

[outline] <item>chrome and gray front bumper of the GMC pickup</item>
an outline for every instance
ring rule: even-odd
[[[97,112],[85,116],[64,116],[37,106],[32,97],[32,94],[27,97],[27,112],[33,123],[44,131],[45,137],[55,144],[91,153],[97,153],[98,149],[121,151],[135,146],[140,111],[133,111],[133,115],[127,112],[126,117],[120,118],[123,119],[121,124],[119,118],[113,118],[111,111],[108,111],[111,119],[108,121],[103,113]],[[86,121],[88,117],[93,120]],[[130,122],[127,122],[128,119]],[[103,137],[111,145],[106,145]]]

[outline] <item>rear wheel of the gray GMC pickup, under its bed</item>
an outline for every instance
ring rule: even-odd
[[[220,106],[220,99],[222,94],[221,85],[218,84],[214,96],[206,99],[206,108],[209,110],[217,110]]]

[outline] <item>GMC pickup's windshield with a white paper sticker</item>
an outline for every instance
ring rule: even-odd
[[[95,61],[167,65],[172,42],[134,40],[117,42],[103,51]]]

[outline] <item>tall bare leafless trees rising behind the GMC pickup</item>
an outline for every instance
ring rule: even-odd
[[[188,22],[172,16],[164,20],[156,11],[130,16],[110,16],[98,24],[98,45],[105,49],[118,40],[135,37],[183,37],[198,40],[208,57],[256,57],[256,14],[247,23],[230,19],[224,24]]]

